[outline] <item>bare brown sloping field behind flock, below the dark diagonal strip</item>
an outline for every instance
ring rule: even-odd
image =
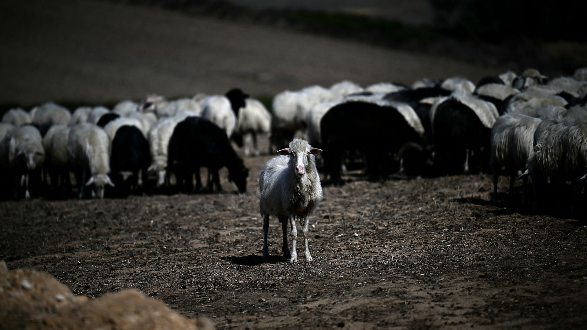
[[[0,104],[87,103],[239,86],[255,96],[343,79],[477,81],[507,68],[110,2],[0,3]]]

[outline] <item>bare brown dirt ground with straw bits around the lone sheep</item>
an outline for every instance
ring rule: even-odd
[[[303,244],[298,265],[282,260],[276,219],[263,261],[267,159],[245,157],[246,194],[223,181],[221,194],[1,203],[0,260],[90,298],[136,288],[218,328],[585,326],[585,223],[490,206],[485,175],[349,173],[311,217],[314,262]]]

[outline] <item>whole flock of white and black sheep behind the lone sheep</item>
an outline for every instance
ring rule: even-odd
[[[363,168],[373,179],[397,171],[492,171],[494,201],[499,174],[510,175],[511,187],[518,177],[526,186],[530,176],[537,205],[546,177],[552,187],[572,181],[576,196],[582,191],[586,95],[584,68],[554,79],[535,69],[508,71],[477,84],[453,77],[361,87],[345,80],[281,92],[271,112],[239,89],[178,100],[150,95],[72,114],[46,103],[2,117],[0,180],[16,198],[48,185],[68,194],[73,172],[80,197],[127,196],[172,183],[200,191],[200,167],[208,169],[207,189],[221,190],[218,169],[227,167],[243,192],[248,169],[231,140],[244,154],[259,154],[257,135],[270,134],[270,152],[295,136],[326,150],[316,159],[325,183],[344,184],[345,167]]]

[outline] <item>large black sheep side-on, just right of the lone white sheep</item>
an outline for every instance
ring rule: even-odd
[[[416,143],[422,146],[422,152],[427,150],[423,136],[390,106],[342,103],[324,115],[320,126],[322,146],[328,151],[323,153],[324,168],[333,184],[344,184],[340,167],[345,151],[360,150],[365,155],[366,173],[377,179],[399,169],[394,156],[398,156],[405,144]],[[414,148],[406,150],[411,154]]]

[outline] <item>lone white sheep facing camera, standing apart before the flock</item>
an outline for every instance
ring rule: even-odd
[[[308,246],[308,225],[309,216],[322,201],[322,185],[314,156],[321,152],[321,149],[313,148],[303,139],[294,139],[289,143],[289,148],[277,151],[281,156],[268,160],[263,166],[259,176],[261,190],[259,212],[263,217],[263,258],[269,257],[267,247],[269,217],[277,215],[284,235],[282,247],[284,258],[289,258],[291,264],[298,263],[295,248],[298,237],[295,221],[297,216],[302,225],[306,263],[313,261]],[[292,237],[291,252],[287,238],[288,218]]]

